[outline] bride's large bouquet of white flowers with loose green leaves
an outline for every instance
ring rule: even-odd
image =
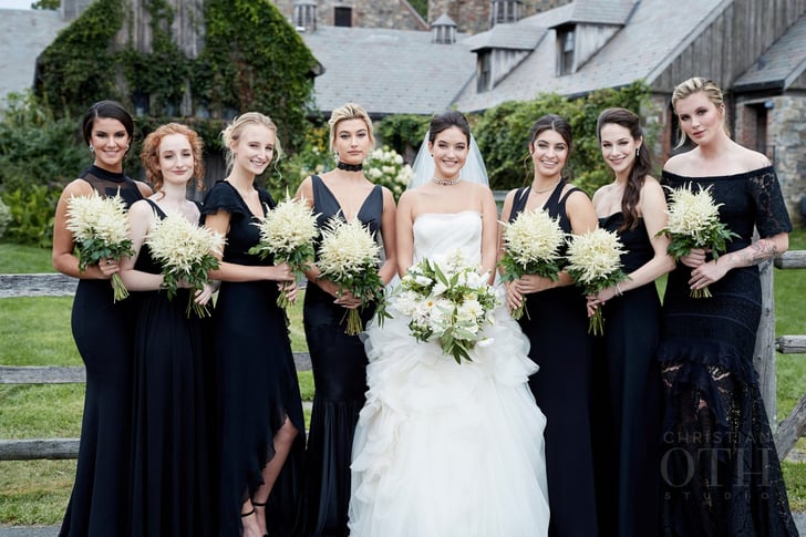
[[[423,259],[409,269],[395,290],[394,304],[412,320],[409,330],[417,341],[436,339],[442,351],[462,363],[476,344],[486,345],[482,329],[493,324],[498,304],[489,275],[466,262],[461,252],[445,259]],[[471,360],[472,361],[472,360]]]

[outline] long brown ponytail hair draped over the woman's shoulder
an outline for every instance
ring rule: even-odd
[[[624,194],[621,196],[621,214],[624,216],[624,223],[621,225],[620,231],[626,229],[636,229],[638,226],[638,203],[641,199],[641,188],[652,169],[652,158],[647,148],[647,141],[643,140],[643,131],[641,130],[641,118],[627,109],[606,109],[599,114],[596,121],[596,136],[601,144],[601,130],[604,125],[612,123],[620,125],[630,132],[630,136],[634,142],[642,140],[643,143],[638,149],[636,161],[632,163],[630,175],[624,185]]]

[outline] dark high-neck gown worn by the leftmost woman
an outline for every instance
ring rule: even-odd
[[[95,165],[80,178],[101,196],[143,196],[124,174]],[[73,338],[86,368],[75,483],[60,536],[125,536],[128,531],[132,437],[132,319],[130,300],[114,302],[108,280],[80,279],[73,299]]]

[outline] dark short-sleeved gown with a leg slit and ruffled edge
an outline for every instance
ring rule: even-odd
[[[257,187],[256,187],[257,188]],[[257,188],[265,207],[271,196]],[[229,213],[224,260],[272,265],[248,254],[259,242],[257,218],[229,183],[209,190],[203,214]],[[272,536],[294,535],[299,523],[304,464],[304,421],[286,311],[277,306],[277,281],[224,281],[213,313],[220,467],[220,537],[240,534],[241,504],[262,484],[261,471],[275,455],[273,436],[288,417],[297,428],[282,471],[269,495],[266,518]]]

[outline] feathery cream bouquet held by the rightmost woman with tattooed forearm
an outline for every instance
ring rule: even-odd
[[[691,254],[692,248],[709,248],[719,259],[720,252],[725,251],[725,241],[738,237],[735,233],[720,221],[720,207],[711,196],[711,187],[701,188],[696,193],[691,185],[673,188],[669,200],[669,223],[658,231],[666,235],[672,241],[666,251],[676,262],[681,257]],[[707,287],[692,289],[693,298],[711,297]]]

